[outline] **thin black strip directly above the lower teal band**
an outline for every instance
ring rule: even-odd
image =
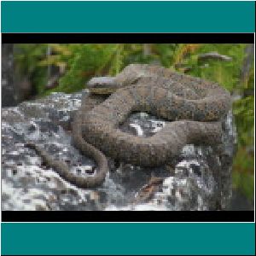
[[[253,222],[254,211],[3,211],[3,222]]]

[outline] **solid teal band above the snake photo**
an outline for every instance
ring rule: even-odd
[[[2,1],[2,32],[254,32],[253,1]]]

